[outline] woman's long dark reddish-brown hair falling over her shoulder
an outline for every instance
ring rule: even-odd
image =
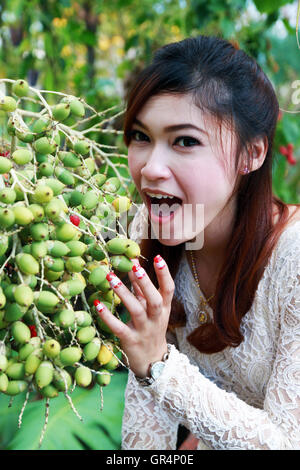
[[[190,93],[194,103],[220,126],[224,122],[231,125],[237,142],[236,176],[245,164],[251,168],[253,140],[266,137],[268,144],[262,166],[237,178],[231,195],[237,197],[236,216],[217,281],[213,321],[199,326],[187,338],[199,351],[214,353],[243,341],[242,317],[252,305],[264,268],[289,220],[288,204],[272,192],[272,145],[279,105],[261,67],[236,44],[217,36],[189,37],[158,49],[151,64],[139,73],[127,99],[127,146],[135,116],[151,96],[163,93]],[[274,203],[279,215],[276,225]],[[151,239],[149,218],[148,229],[148,239],[141,242],[146,258],[141,264],[157,286],[153,256],[160,253],[164,257],[174,279],[184,243],[168,247]],[[174,298],[169,328],[184,324],[184,308]]]

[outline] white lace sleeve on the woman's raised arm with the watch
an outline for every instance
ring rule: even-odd
[[[300,253],[280,274],[280,333],[263,409],[219,388],[174,346],[148,387],[159,409],[212,449],[300,449]]]

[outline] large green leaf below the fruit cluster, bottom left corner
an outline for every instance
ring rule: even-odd
[[[111,383],[103,387],[102,411],[100,411],[100,387],[98,385],[90,390],[76,387],[70,396],[83,422],[75,415],[63,393],[50,400],[49,420],[40,449],[120,449],[126,383],[126,372],[114,373]],[[22,394],[22,397],[16,397],[12,408],[8,408],[9,399],[10,397],[6,395],[0,395],[2,448],[38,449],[45,421],[45,400],[31,400],[27,403],[22,426],[18,429],[17,417],[25,394]]]

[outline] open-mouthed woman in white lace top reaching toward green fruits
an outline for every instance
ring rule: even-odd
[[[198,449],[300,448],[300,205],[272,194],[278,111],[213,36],[162,47],[131,90],[143,257],[131,290],[108,275],[130,322],[99,311],[130,364],[123,449],[176,449],[179,424]]]

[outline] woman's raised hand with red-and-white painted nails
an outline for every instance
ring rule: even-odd
[[[135,295],[114,273],[107,275],[111,288],[130,313],[131,320],[127,324],[116,318],[105,305],[101,304],[101,311],[97,306],[100,318],[120,338],[130,369],[138,377],[145,377],[150,362],[160,361],[167,352],[166,331],[175,285],[167,264],[159,255],[154,258],[157,259],[161,260],[159,263],[154,261],[159,289],[137,259],[132,260],[135,264],[128,273]]]

